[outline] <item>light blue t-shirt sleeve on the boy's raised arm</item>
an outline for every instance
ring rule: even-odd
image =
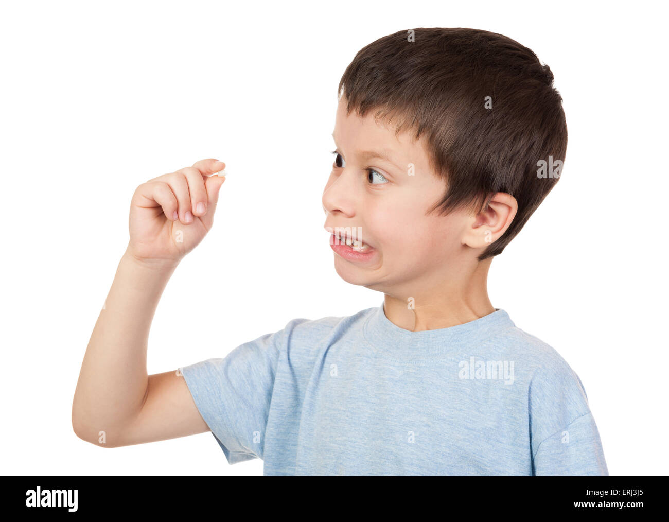
[[[291,323],[236,347],[223,359],[179,368],[229,464],[263,458],[276,367]]]

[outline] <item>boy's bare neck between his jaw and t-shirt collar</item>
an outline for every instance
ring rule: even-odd
[[[491,314],[495,309],[488,298],[490,262],[492,258],[478,262],[446,282],[423,282],[411,295],[385,294],[383,311],[391,323],[414,332],[462,325]]]

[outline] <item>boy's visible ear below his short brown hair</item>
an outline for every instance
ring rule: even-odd
[[[462,244],[472,248],[487,248],[498,240],[516,217],[518,201],[505,192],[492,196],[488,206],[473,215],[462,235]]]

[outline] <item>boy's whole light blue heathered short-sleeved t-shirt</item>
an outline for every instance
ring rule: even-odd
[[[608,475],[581,380],[503,310],[293,319],[180,369],[229,464],[265,475]]]

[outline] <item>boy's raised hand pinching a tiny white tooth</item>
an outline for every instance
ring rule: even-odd
[[[225,163],[201,159],[193,167],[155,177],[134,191],[126,251],[152,266],[176,266],[213,226]]]

